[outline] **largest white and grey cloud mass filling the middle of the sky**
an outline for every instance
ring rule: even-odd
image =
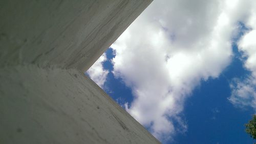
[[[229,65],[231,38],[251,3],[155,0],[111,46],[113,73],[135,97],[126,110],[161,140],[185,131],[185,98]]]

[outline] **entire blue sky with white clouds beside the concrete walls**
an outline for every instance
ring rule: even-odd
[[[163,143],[253,143],[256,1],[155,0],[86,72]]]

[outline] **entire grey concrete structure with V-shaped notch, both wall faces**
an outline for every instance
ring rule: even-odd
[[[83,74],[150,3],[0,1],[0,143],[158,143]]]

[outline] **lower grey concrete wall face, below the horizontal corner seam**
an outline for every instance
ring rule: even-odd
[[[0,70],[0,143],[158,143],[80,71]]]

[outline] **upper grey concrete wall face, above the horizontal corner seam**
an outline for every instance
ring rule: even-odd
[[[152,0],[0,1],[0,66],[86,71]]]

